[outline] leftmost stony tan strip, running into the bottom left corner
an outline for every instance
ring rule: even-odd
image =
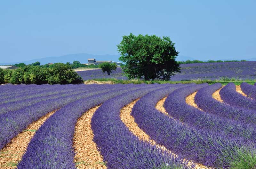
[[[55,113],[56,110],[47,113],[45,116],[39,118],[37,121],[28,125],[26,130],[12,138],[11,142],[6,144],[0,150],[0,168],[13,169],[17,168],[16,165],[21,160],[23,154],[27,150],[28,143],[35,135],[36,130]]]

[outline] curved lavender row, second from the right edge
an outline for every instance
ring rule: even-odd
[[[228,83],[220,90],[221,99],[233,106],[243,107],[245,109],[256,110],[256,100],[252,100],[236,92],[236,85]]]

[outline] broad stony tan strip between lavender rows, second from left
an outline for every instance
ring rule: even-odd
[[[92,141],[93,133],[91,129],[91,119],[94,112],[100,106],[96,106],[82,115],[76,123],[75,134],[73,138],[75,157],[74,163],[76,168],[83,169],[106,169],[100,152],[96,144]]]

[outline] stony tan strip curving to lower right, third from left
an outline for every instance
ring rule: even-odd
[[[166,97],[165,97],[166,98]],[[152,145],[156,145],[158,148],[165,150],[165,151],[169,151],[170,154],[173,154],[175,157],[177,157],[176,154],[172,153],[170,150],[166,149],[163,145],[160,144],[156,144],[156,142],[152,139],[150,139],[150,137],[139,128],[139,126],[135,123],[134,121],[134,117],[131,116],[131,112],[132,112],[132,108],[134,106],[134,104],[138,101],[139,99],[136,99],[134,101],[132,101],[131,103],[129,103],[128,105],[124,106],[121,111],[120,111],[120,118],[122,120],[122,122],[129,128],[129,130],[135,135],[138,136],[141,140],[143,141],[147,141]],[[163,99],[161,99],[163,100]],[[159,106],[160,107],[160,106]],[[164,112],[164,111],[163,111]],[[188,164],[190,164],[191,162],[188,162]],[[196,164],[195,169],[206,169],[207,167],[205,167],[204,165],[201,164]]]

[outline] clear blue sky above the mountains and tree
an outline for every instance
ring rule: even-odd
[[[199,60],[256,57],[255,0],[6,0],[0,62],[72,53],[118,54],[123,35],[169,36]]]

